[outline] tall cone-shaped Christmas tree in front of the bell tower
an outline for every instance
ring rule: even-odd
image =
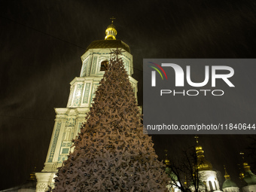
[[[53,191],[166,191],[168,176],[143,133],[133,87],[113,51],[94,103],[56,173]]]

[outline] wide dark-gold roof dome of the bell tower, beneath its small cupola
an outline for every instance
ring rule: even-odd
[[[127,52],[130,53],[130,47],[128,44],[124,43],[120,40],[99,40],[99,41],[93,41],[88,47],[87,50],[90,49],[104,49],[104,48],[123,48]],[[86,50],[86,51],[87,51]]]

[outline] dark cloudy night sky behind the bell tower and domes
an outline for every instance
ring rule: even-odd
[[[254,0],[9,0],[0,5],[0,190],[22,184],[34,166],[43,169],[53,108],[66,107],[69,83],[80,75],[80,57],[92,41],[104,39],[110,17],[116,18],[117,39],[133,54],[139,105],[143,58],[256,57]],[[164,149],[172,157],[195,145],[192,135],[153,140],[160,160]],[[213,167],[223,175],[225,164],[238,184],[239,151],[246,151],[251,139],[206,135],[199,140]]]

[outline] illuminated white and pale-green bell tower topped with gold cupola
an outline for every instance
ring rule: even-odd
[[[56,170],[62,166],[69,152],[72,151],[72,139],[78,135],[85,120],[87,111],[93,102],[95,91],[105,71],[108,70],[108,61],[111,59],[113,49],[121,48],[123,64],[129,75],[135,96],[137,97],[137,82],[133,75],[133,55],[130,47],[123,41],[117,40],[117,30],[111,18],[111,25],[105,30],[105,40],[93,41],[81,56],[82,66],[80,77],[74,78],[70,83],[69,100],[66,108],[55,108],[56,118],[50,146],[44,163],[44,169],[35,173],[37,178],[37,192],[53,187]]]

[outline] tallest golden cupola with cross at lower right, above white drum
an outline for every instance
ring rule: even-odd
[[[197,169],[198,171],[203,170],[212,170],[212,163],[207,161],[204,156],[204,151],[201,145],[198,143],[198,136],[195,136],[197,139],[197,146],[196,146],[196,154],[197,154]]]

